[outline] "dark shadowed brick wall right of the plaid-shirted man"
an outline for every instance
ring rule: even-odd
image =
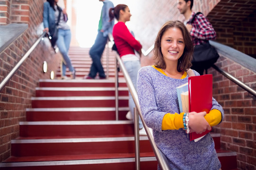
[[[255,1],[223,0],[207,17],[217,32],[217,42],[256,59]]]

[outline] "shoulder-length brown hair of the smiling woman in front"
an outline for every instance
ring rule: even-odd
[[[155,39],[155,47],[154,47],[155,67],[163,68],[163,69],[166,68],[166,63],[161,51],[161,40],[165,31],[173,27],[179,28],[181,30],[184,43],[185,43],[183,54],[178,60],[178,65],[177,65],[177,71],[182,72],[182,71],[186,71],[192,66],[191,61],[193,57],[194,48],[193,48],[193,43],[192,43],[190,34],[186,26],[181,21],[178,21],[178,20],[166,22],[157,34],[157,37]]]

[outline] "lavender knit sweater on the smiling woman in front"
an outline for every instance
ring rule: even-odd
[[[187,83],[188,77],[174,79],[151,66],[141,68],[137,77],[140,109],[146,125],[153,129],[155,144],[166,155],[172,170],[219,170],[220,162],[210,134],[194,142],[183,129],[162,130],[166,113],[180,113],[176,87]],[[215,99],[212,109],[219,110],[224,118],[224,111]]]

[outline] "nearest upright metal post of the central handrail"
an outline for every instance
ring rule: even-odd
[[[140,156],[139,156],[139,126],[138,126],[137,108],[134,108],[134,138],[135,138],[135,169],[139,170]]]

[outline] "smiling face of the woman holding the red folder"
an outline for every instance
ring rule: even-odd
[[[184,48],[185,43],[182,31],[176,27],[167,29],[161,38],[161,51],[165,63],[178,61],[183,54]]]

